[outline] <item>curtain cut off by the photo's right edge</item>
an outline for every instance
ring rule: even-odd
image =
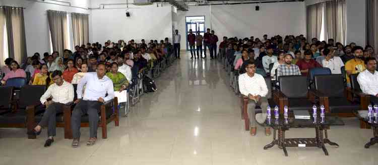
[[[378,50],[378,1],[366,0],[366,43]]]

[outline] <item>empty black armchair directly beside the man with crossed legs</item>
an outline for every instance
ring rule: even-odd
[[[39,101],[46,90],[45,85],[25,85],[21,87],[20,99],[15,103],[12,112],[0,116],[0,127],[2,128],[27,128],[34,129],[35,115],[44,111],[44,106]],[[28,137],[35,139],[35,136]]]

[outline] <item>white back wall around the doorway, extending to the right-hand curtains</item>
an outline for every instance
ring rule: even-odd
[[[182,35],[185,32],[185,16],[205,16],[205,28],[212,25],[219,40],[223,36],[263,38],[263,34],[268,34],[268,37],[277,34],[306,35],[304,2],[259,4],[260,11],[255,11],[255,6],[217,5],[211,7],[211,14],[209,6],[191,6],[189,11],[178,11],[174,21],[177,21]],[[186,45],[185,41],[186,38],[181,37],[181,45]],[[185,46],[181,46],[181,49],[185,49]]]

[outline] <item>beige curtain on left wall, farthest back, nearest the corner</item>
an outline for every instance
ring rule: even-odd
[[[71,13],[72,31],[74,34],[74,46],[87,44],[89,41],[88,14]]]

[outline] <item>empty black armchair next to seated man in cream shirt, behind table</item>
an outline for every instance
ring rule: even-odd
[[[313,105],[313,100],[308,99],[307,78],[304,76],[280,76],[278,77],[279,90],[275,90],[274,101],[279,105],[280,113],[283,113],[285,105],[289,110],[308,111]]]

